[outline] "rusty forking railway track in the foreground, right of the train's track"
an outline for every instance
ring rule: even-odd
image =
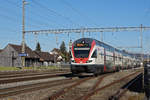
[[[86,78],[86,79],[84,79],[84,81],[83,80],[81,82],[79,81],[79,82],[73,84],[72,86],[66,87],[66,88],[58,91],[57,93],[52,94],[50,97],[44,98],[42,100],[88,100],[93,95],[103,91],[104,89],[112,87],[115,84],[118,84],[118,83],[120,83],[122,81],[127,80],[128,78],[131,78],[131,77],[133,78],[134,76],[136,76],[139,73],[141,73],[141,72],[139,72],[139,71],[138,72],[134,72],[134,73],[126,75],[126,76],[124,76],[124,77],[122,77],[120,79],[114,80],[113,82],[108,83],[108,84],[106,84],[104,86],[98,87],[101,84],[101,82],[103,81],[103,79],[105,77],[109,76],[107,74],[107,75],[100,76],[98,78],[98,80],[95,82],[95,84],[93,84],[93,86],[91,88],[78,89],[78,90],[74,89],[77,86],[79,86],[80,84],[82,84],[82,83],[92,79],[92,78]],[[95,99],[92,99],[92,100],[95,100]],[[97,100],[99,100],[99,99],[97,99]]]

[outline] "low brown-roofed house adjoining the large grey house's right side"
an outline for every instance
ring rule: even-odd
[[[41,66],[48,66],[51,63],[54,63],[54,55],[48,53],[48,52],[38,52],[34,51],[39,56],[39,62],[41,63]]]

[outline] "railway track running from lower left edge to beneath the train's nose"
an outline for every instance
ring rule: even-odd
[[[21,85],[10,88],[0,89],[0,98],[15,96],[21,93],[37,91],[40,89],[51,88],[62,84],[70,84],[76,82],[77,79],[61,79],[55,81],[40,82],[35,84]],[[63,82],[63,83],[62,83]]]

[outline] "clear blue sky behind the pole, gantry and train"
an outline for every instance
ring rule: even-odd
[[[26,0],[25,29],[60,29],[81,27],[150,26],[150,0]],[[8,43],[22,41],[22,0],[1,0],[0,49]],[[35,49],[40,42],[43,51],[59,47],[62,41],[80,38],[79,33],[26,34],[26,43]],[[104,32],[104,42],[112,46],[139,46],[139,32]],[[56,45],[56,37],[58,45]],[[100,33],[85,37],[100,40]],[[150,31],[143,32],[144,51],[150,52]],[[139,52],[140,49],[127,49]]]

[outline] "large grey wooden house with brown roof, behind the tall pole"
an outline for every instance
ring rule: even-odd
[[[0,52],[0,66],[15,66],[21,67],[21,45],[8,44]],[[25,66],[39,66],[39,56],[32,51],[28,46],[25,47]]]

